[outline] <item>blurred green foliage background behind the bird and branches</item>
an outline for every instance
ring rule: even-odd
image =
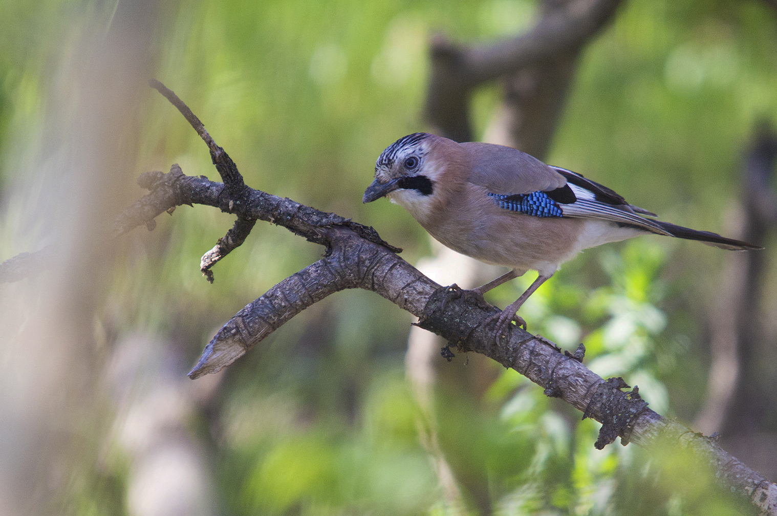
[[[14,22],[0,31],[0,180],[9,187],[30,169],[25,149],[45,131],[47,104],[57,102],[49,95],[52,63],[72,57],[82,33],[105,30],[114,5],[0,6]],[[246,183],[373,225],[413,263],[430,252],[423,229],[388,202],[362,205],[361,194],[386,145],[427,129],[427,41],[434,33],[465,42],[514,34],[531,26],[536,6],[202,0],[166,9],[156,78],[204,121]],[[777,115],[775,28],[761,2],[624,2],[584,51],[549,162],[664,220],[725,232],[744,145],[758,120]],[[477,134],[499,96],[498,85],[477,92]],[[197,135],[150,89],[141,119],[138,174],[177,162],[189,175],[216,176]],[[30,250],[34,240],[17,237],[29,228],[29,207],[5,196],[0,208],[2,258]],[[174,336],[193,363],[237,310],[322,253],[260,223],[209,285],[197,270],[200,256],[231,225],[210,208],[180,207],[161,216],[155,232],[133,232],[101,324],[116,340],[138,331]],[[570,349],[584,342],[594,371],[623,375],[655,410],[690,421],[704,396],[703,325],[722,260],[718,249],[657,237],[605,246],[565,266],[523,316]],[[492,299],[505,305],[521,286],[504,286]],[[410,321],[377,295],[343,292],[226,373],[211,413],[191,421],[210,447],[222,514],[451,513],[418,441],[404,379]],[[657,475],[633,446],[594,450],[598,424],[580,422],[514,371],[476,357],[472,366],[463,356],[439,360],[441,446],[472,514],[731,510],[705,496],[703,479],[678,495],[669,486],[682,476]],[[126,511],[118,455],[74,491],[72,512]]]

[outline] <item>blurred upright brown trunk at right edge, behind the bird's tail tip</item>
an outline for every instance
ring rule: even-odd
[[[727,233],[734,238],[758,242],[763,246],[768,232],[777,224],[777,196],[772,187],[775,159],[777,135],[768,124],[759,124],[741,171],[744,207],[728,217],[735,227],[730,227]],[[754,350],[758,343],[768,342],[762,338],[759,318],[758,305],[765,270],[764,256],[756,256],[759,254],[726,255],[721,294],[710,325],[713,363],[709,371],[707,399],[696,420],[702,431],[723,430],[726,412],[730,410],[726,434],[739,434],[753,419],[747,415],[752,413],[753,403],[773,404],[767,394],[772,389],[758,387],[758,383],[762,385],[764,380],[759,367],[764,350]],[[740,361],[743,363],[740,364]],[[740,376],[740,371],[744,376]],[[737,389],[740,403],[732,405]]]

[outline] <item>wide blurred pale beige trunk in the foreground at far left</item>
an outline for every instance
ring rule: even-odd
[[[32,9],[32,6],[30,6]],[[19,162],[16,241],[51,247],[50,268],[4,285],[0,334],[3,514],[96,510],[96,462],[112,414],[100,323],[117,263],[105,222],[136,195],[138,114],[154,68],[155,0],[120,2],[106,27],[69,9],[68,34],[41,74],[45,113]],[[32,64],[31,64],[32,65]],[[20,201],[23,200],[23,201]]]

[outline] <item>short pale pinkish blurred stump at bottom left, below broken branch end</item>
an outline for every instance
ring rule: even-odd
[[[133,516],[218,512],[207,441],[191,420],[218,399],[223,375],[189,382],[181,354],[171,340],[131,334],[117,342],[105,371],[101,387],[117,406],[110,449],[119,446],[127,458],[124,503]],[[143,381],[132,382],[139,371]]]

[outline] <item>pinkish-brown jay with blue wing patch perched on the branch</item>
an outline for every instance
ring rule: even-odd
[[[480,302],[485,303],[483,295],[492,288],[537,271],[521,296],[486,321],[496,321],[497,339],[513,321],[526,329],[518,309],[583,249],[648,233],[722,249],[762,249],[659,221],[608,187],[516,148],[458,143],[430,133],[408,134],[381,153],[362,201],[381,197],[404,207],[444,246],[510,269],[472,289]]]

